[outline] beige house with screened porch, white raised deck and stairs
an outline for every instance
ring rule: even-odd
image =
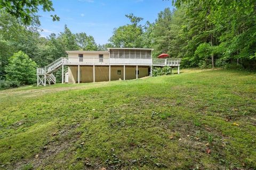
[[[37,86],[55,83],[53,72],[62,69],[62,83],[130,80],[151,75],[152,66],[180,66],[180,58],[152,58],[149,48],[108,48],[107,51],[67,51],[44,68],[37,69]],[[68,71],[64,73],[64,66]],[[65,79],[64,79],[65,74]]]

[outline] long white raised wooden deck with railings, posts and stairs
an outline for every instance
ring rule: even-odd
[[[93,66],[93,76],[94,76],[94,67],[97,65],[105,65],[111,67],[111,65],[120,65],[120,66],[171,66],[178,67],[178,74],[180,68],[180,58],[89,58],[89,57],[61,57],[58,60],[55,60],[51,64],[43,67],[37,68],[37,86],[42,84],[46,86],[46,81],[51,84],[55,83],[55,77],[52,74],[54,71],[57,71],[62,67],[62,83],[63,83],[63,66],[79,66],[82,65],[91,65]],[[78,69],[79,70],[79,69]],[[109,69],[110,70],[110,69]],[[79,71],[78,71],[79,73]],[[110,72],[109,72],[110,75]],[[138,75],[137,75],[138,78]],[[79,82],[79,81],[78,81]]]

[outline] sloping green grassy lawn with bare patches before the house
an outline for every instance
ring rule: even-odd
[[[0,91],[0,169],[256,169],[256,75]]]

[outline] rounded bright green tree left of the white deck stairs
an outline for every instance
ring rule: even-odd
[[[36,81],[36,63],[27,54],[19,51],[9,58],[5,68],[6,78],[21,84],[32,84]]]

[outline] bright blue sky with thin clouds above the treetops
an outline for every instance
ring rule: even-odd
[[[63,31],[64,25],[73,33],[85,32],[94,37],[97,44],[105,44],[113,35],[113,29],[129,23],[125,14],[133,13],[135,16],[154,22],[157,14],[164,8],[172,7],[172,1],[162,0],[53,0],[54,12],[39,11],[41,15],[41,32],[43,37],[50,33]],[[60,21],[53,22],[50,15],[57,14]]]

